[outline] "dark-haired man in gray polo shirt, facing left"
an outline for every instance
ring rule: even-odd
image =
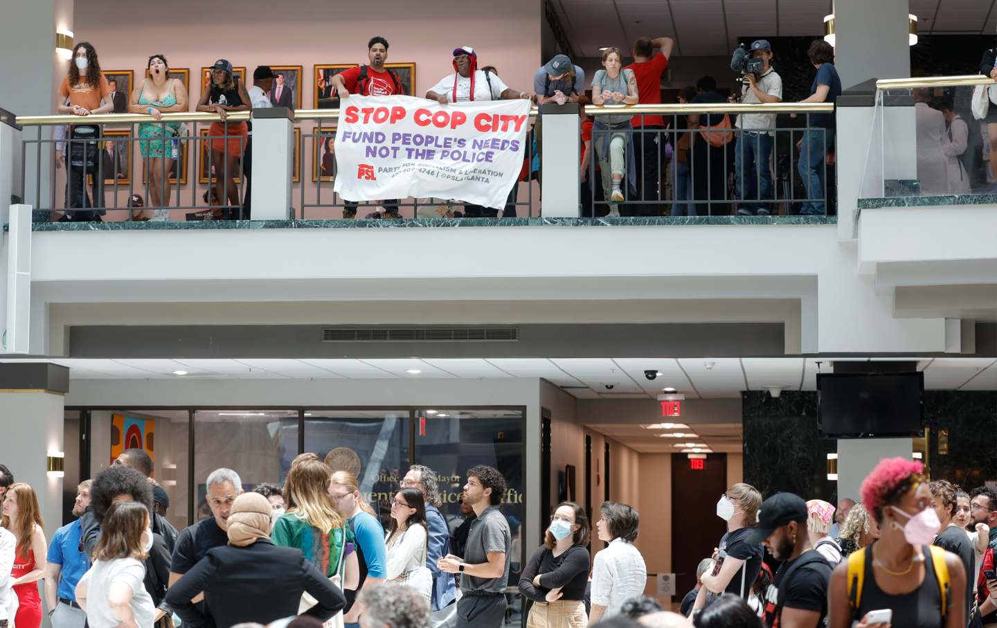
[[[464,557],[447,554],[437,562],[447,573],[462,574],[457,628],[498,628],[505,618],[502,591],[508,582],[511,534],[498,509],[504,494],[505,478],[497,470],[483,465],[468,471],[464,501],[478,518],[471,523]]]

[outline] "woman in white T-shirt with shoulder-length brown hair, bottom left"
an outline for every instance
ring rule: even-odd
[[[153,628],[156,604],[146,590],[143,561],[153,547],[149,508],[119,501],[108,508],[94,565],[76,585],[76,601],[93,628]]]

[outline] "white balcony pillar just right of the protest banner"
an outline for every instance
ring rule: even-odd
[[[577,217],[581,181],[578,105],[541,105],[540,210],[544,217]]]

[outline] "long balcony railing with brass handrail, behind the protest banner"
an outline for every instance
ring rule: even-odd
[[[577,132],[534,138],[529,131],[517,182],[504,208],[490,212],[459,198],[345,201],[333,190],[338,110],[297,111],[291,174],[281,181],[293,190],[291,206],[281,211],[291,219],[540,216],[538,153],[556,156],[580,143],[588,157],[574,176],[544,184],[554,190],[547,193],[579,189],[575,216],[833,214],[833,112],[832,104],[799,103],[588,106],[572,126]],[[533,120],[536,115],[534,109]],[[619,125],[631,117],[643,124]],[[660,126],[650,126],[653,117]],[[253,133],[247,141],[236,125],[250,119],[249,113],[230,114],[225,122],[201,113],[165,114],[159,121],[132,114],[19,117],[24,130],[15,170],[24,202],[36,209],[36,221],[259,218],[251,188],[267,182],[252,180],[247,161],[274,147],[257,143],[246,153]],[[737,126],[741,121],[745,129]],[[159,139],[164,134],[165,141]],[[612,170],[621,147],[625,176],[614,196]],[[268,179],[278,175],[283,171],[266,172]],[[142,207],[134,206],[137,196]]]

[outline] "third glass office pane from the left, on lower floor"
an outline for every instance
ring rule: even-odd
[[[333,471],[357,475],[360,491],[391,521],[391,499],[409,468],[410,411],[307,410],[305,452],[317,454]]]

